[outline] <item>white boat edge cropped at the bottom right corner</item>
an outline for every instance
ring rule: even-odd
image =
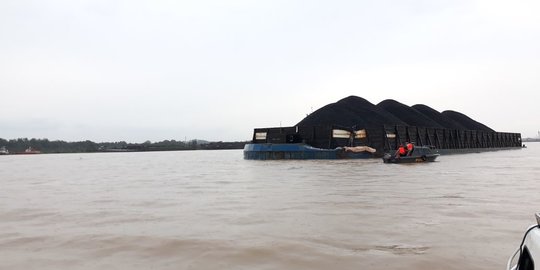
[[[521,244],[508,259],[507,270],[534,270],[534,262],[540,262],[540,213],[535,216],[537,224],[525,231]],[[516,264],[513,264],[517,255]]]

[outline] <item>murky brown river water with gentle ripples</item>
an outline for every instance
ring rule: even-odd
[[[0,156],[0,269],[504,269],[540,211],[528,146],[413,165]]]

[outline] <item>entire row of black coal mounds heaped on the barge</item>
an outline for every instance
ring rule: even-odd
[[[418,126],[460,130],[493,130],[468,116],[455,112],[438,111],[418,104],[412,107],[395,100],[385,100],[378,105],[357,96],[346,97],[328,104],[308,115],[297,126],[344,126],[355,128],[392,126]]]

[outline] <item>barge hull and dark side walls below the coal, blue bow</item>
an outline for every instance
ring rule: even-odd
[[[341,126],[257,128],[244,159],[380,158],[400,144],[430,146],[439,154],[521,149],[521,134],[416,126],[382,126],[355,130]]]

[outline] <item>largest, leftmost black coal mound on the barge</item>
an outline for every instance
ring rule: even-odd
[[[406,125],[389,112],[357,96],[346,97],[336,103],[328,104],[308,115],[297,126],[345,126],[374,127],[385,125]]]

